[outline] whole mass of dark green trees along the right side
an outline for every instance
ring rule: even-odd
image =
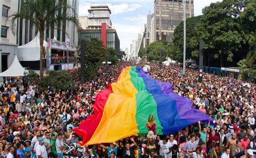
[[[223,1],[203,9],[203,16],[186,20],[186,56],[198,57],[204,41],[204,57],[214,66],[234,66],[252,51],[256,38],[256,1]],[[174,31],[174,44],[183,51],[183,22]],[[217,64],[219,63],[219,64]]]

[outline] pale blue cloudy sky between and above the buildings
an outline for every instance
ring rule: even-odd
[[[194,0],[194,16],[201,15],[201,10],[211,3],[221,0]],[[125,51],[132,40],[138,38],[146,23],[147,14],[154,12],[154,0],[80,0],[79,16],[87,16],[91,5],[108,5],[112,14],[112,27],[117,30],[120,48]]]

